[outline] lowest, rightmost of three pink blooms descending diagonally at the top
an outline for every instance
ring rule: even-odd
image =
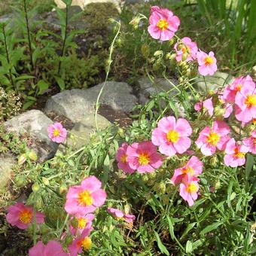
[[[210,51],[209,54],[203,51],[197,52],[198,72],[200,75],[213,75],[217,71],[217,60],[215,54]]]

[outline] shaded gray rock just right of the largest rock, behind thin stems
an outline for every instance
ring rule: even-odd
[[[178,81],[170,78],[169,81],[172,84],[177,85]],[[160,92],[167,92],[172,89],[173,85],[166,81],[163,78],[155,78],[154,82],[151,82],[149,78],[140,78],[138,81],[139,84],[139,103],[145,104],[150,99],[150,96],[153,96]],[[173,90],[173,93],[177,92]]]

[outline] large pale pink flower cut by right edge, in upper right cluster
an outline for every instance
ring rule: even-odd
[[[254,82],[246,84],[236,93],[236,119],[244,123],[256,118],[256,91]]]

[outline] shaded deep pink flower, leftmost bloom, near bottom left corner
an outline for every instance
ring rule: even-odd
[[[6,220],[12,226],[19,227],[25,230],[34,221],[32,206],[25,206],[23,203],[15,203],[8,207],[8,214]],[[44,214],[41,212],[35,213],[35,221],[37,224],[44,222]]]

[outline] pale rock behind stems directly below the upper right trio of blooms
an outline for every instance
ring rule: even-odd
[[[233,76],[224,72],[215,72],[215,75],[206,75],[207,90],[215,90],[218,87],[223,87],[233,81]],[[206,91],[206,84],[203,76],[195,80],[194,87],[200,91]]]

